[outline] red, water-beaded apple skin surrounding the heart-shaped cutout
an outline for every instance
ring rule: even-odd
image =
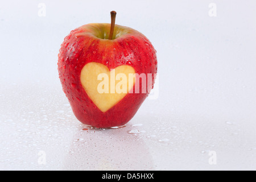
[[[151,73],[152,87],[154,74],[157,72],[156,51],[146,36],[132,28],[116,24],[114,36],[117,38],[98,38],[108,36],[108,30],[109,23],[86,24],[76,28],[65,37],[58,55],[59,78],[73,113],[80,122],[98,128],[125,125],[137,113],[148,92],[128,93],[103,113],[82,87],[80,73],[85,64],[101,63],[109,69],[130,65],[138,74]],[[140,81],[140,90],[141,86]]]

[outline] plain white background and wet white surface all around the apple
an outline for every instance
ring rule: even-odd
[[[71,30],[109,23],[112,10],[157,50],[159,97],[126,127],[82,131],[57,54]],[[249,0],[1,1],[0,169],[255,170],[255,15]]]

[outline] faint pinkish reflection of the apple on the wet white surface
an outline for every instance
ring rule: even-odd
[[[80,124],[64,170],[154,170],[143,138],[130,134],[131,124],[118,128],[95,129]]]

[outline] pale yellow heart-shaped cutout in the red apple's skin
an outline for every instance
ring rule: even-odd
[[[82,68],[80,80],[90,100],[105,113],[133,88],[134,75],[135,70],[129,65],[110,71],[101,63],[91,62]]]

